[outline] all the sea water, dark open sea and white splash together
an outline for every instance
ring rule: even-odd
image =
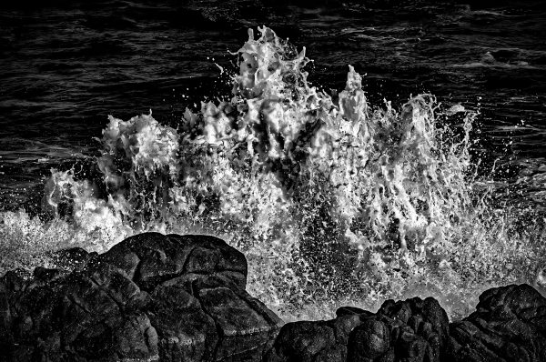
[[[4,2],[0,274],[204,232],[286,319],[458,317],[546,286],[545,117],[541,1]]]

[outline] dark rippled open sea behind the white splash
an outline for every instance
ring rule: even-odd
[[[430,92],[480,109],[480,147],[489,158],[527,167],[546,154],[541,1],[31,4],[0,5],[4,207],[20,206],[51,167],[94,155],[93,137],[107,115],[125,119],[151,109],[176,126],[187,106],[227,94],[212,59],[232,66],[227,51],[258,25],[307,47],[316,85],[340,89],[354,65],[367,74],[373,102]]]

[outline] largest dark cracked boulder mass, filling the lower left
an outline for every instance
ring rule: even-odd
[[[245,291],[245,257],[213,236],[147,233],[59,260],[0,278],[0,360],[258,361],[281,324]]]

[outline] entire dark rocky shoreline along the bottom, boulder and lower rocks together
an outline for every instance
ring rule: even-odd
[[[487,290],[453,323],[414,297],[283,326],[214,236],[146,233],[56,264],[0,278],[0,361],[546,361],[546,299],[525,284]]]

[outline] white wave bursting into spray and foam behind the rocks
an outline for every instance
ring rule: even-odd
[[[230,101],[187,109],[177,130],[110,116],[99,176],[47,182],[52,220],[0,214],[2,270],[145,230],[213,234],[245,253],[249,291],[287,319],[410,295],[460,317],[477,290],[536,274],[541,224],[521,232],[475,191],[475,115],[442,114],[431,95],[371,106],[350,65],[329,96],[308,84],[305,48],[259,31],[236,53]],[[459,132],[440,126],[457,115]]]

